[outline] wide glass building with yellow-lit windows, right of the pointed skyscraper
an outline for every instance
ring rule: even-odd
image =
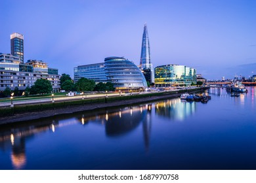
[[[196,84],[196,69],[184,65],[161,65],[155,68],[157,87],[189,86]]]

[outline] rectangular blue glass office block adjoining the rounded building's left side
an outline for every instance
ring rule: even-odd
[[[79,78],[88,78],[98,82],[107,82],[104,63],[95,63],[89,65],[81,65],[74,68],[74,81],[77,82]]]

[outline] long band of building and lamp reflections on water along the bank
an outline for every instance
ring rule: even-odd
[[[144,149],[150,150],[153,114],[173,120],[184,120],[196,110],[196,103],[171,99],[144,105],[112,108],[98,112],[79,112],[70,116],[58,116],[33,121],[27,124],[16,124],[0,129],[0,150],[10,152],[13,169],[26,169],[26,143],[40,133],[58,133],[58,129],[71,125],[81,125],[87,130],[88,124],[100,124],[104,127],[106,137],[119,138],[141,127]],[[75,118],[74,118],[75,115]],[[153,116],[152,116],[153,115]],[[91,132],[94,133],[94,132]]]

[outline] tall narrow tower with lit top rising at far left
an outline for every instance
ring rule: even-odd
[[[11,54],[24,63],[24,37],[20,33],[11,34]]]

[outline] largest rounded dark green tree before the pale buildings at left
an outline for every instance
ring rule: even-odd
[[[53,86],[49,80],[38,79],[35,81],[33,86],[30,88],[31,94],[43,94],[43,93],[51,93],[53,91]]]

